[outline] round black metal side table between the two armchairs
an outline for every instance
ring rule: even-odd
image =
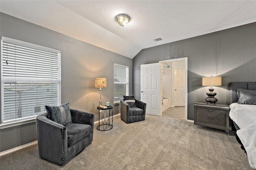
[[[99,110],[99,126],[97,130],[106,131],[113,128],[113,106],[107,108],[97,107]],[[102,110],[102,119],[100,120],[100,110]]]

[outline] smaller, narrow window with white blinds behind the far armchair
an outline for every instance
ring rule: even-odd
[[[114,64],[114,103],[129,95],[129,67]]]

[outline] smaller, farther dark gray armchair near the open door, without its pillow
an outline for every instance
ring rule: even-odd
[[[136,107],[129,107],[123,100],[120,100],[121,119],[126,123],[144,121],[146,116],[146,103],[135,99]]]

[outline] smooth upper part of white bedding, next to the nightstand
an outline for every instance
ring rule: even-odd
[[[232,103],[229,105],[229,117],[240,129],[256,122],[256,105]]]

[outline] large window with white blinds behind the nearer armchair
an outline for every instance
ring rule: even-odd
[[[2,36],[1,73],[1,123],[60,105],[60,50]]]

